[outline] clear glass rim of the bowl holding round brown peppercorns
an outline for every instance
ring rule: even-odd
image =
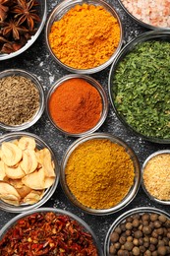
[[[152,208],[152,207],[135,208],[135,209],[132,209],[132,210],[124,213],[123,215],[118,217],[117,220],[114,221],[113,224],[111,224],[109,230],[107,231],[105,242],[104,242],[104,255],[105,256],[112,255],[112,254],[109,253],[109,247],[111,245],[111,240],[110,240],[111,233],[115,230],[115,228],[117,226],[119,226],[120,224],[125,223],[127,218],[129,218],[133,215],[136,215],[136,214],[139,214],[139,215],[142,215],[142,214],[164,215],[167,218],[167,220],[170,221],[170,216],[166,212],[164,212],[162,210],[159,210],[159,209],[156,209],[156,208]],[[140,255],[142,255],[142,254],[140,254]]]

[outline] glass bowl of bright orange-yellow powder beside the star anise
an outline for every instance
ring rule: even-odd
[[[109,66],[122,46],[122,23],[102,0],[65,0],[46,26],[46,43],[57,63],[73,73],[91,74]]]

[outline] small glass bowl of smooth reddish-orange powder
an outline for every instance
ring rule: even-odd
[[[102,86],[93,78],[71,74],[55,82],[46,96],[49,120],[60,132],[83,137],[105,121],[108,100]]]

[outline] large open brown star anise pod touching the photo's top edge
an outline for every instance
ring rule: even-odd
[[[12,12],[15,15],[15,19],[18,19],[20,24],[27,22],[28,29],[30,31],[34,28],[34,23],[40,22],[40,18],[35,14],[36,10],[33,9],[37,3],[34,0],[17,0],[18,4],[14,6]]]

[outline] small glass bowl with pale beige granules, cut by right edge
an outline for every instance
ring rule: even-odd
[[[157,151],[142,164],[142,188],[146,195],[156,203],[170,205],[169,190],[167,191],[169,172],[170,150]]]

